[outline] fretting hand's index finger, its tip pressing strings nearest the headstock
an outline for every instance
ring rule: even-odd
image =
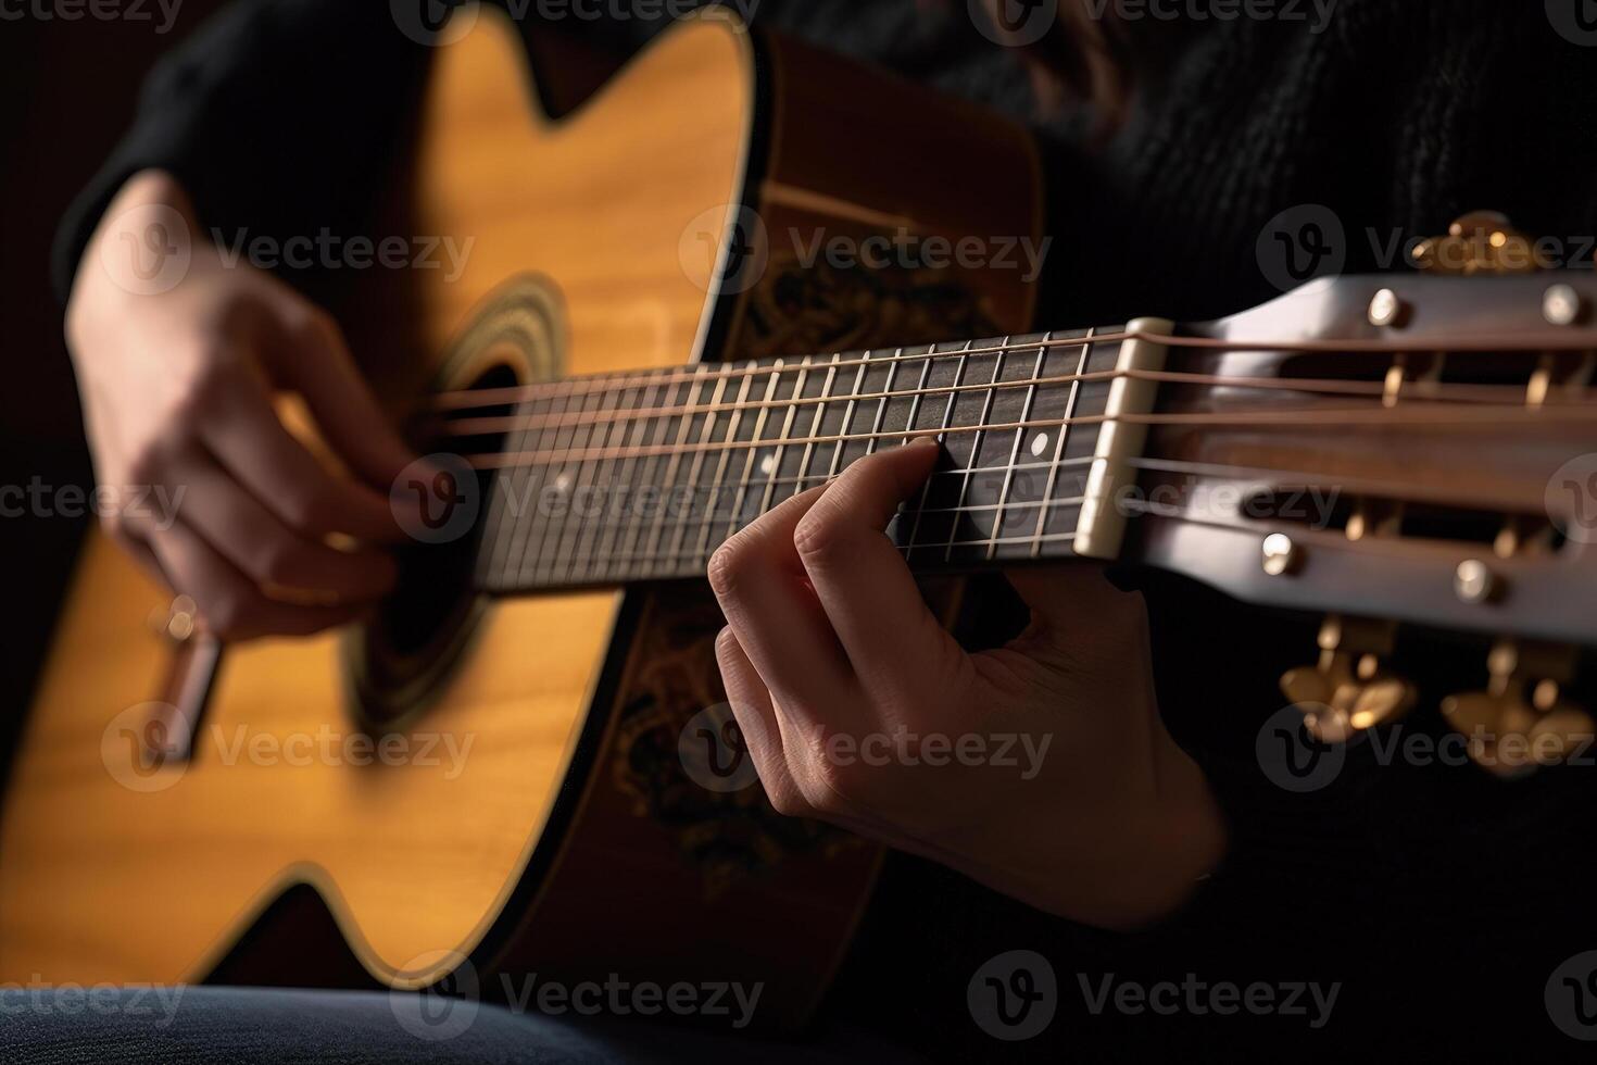
[[[926,439],[861,458],[794,530],[814,594],[867,690],[902,687],[905,677],[941,683],[941,667],[963,658],[883,532],[937,452]]]

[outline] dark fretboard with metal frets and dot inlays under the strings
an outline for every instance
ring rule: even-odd
[[[910,434],[944,445],[886,530],[912,568],[1068,556],[1099,437],[1092,417],[1105,410],[1121,346],[1092,337],[1119,332],[529,390],[493,457],[478,583],[513,592],[699,576],[760,514]]]

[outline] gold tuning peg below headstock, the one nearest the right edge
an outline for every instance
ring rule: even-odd
[[[1442,717],[1468,739],[1471,760],[1500,778],[1555,765],[1591,741],[1591,714],[1562,698],[1575,651],[1501,640],[1487,658],[1485,691],[1442,699]]]

